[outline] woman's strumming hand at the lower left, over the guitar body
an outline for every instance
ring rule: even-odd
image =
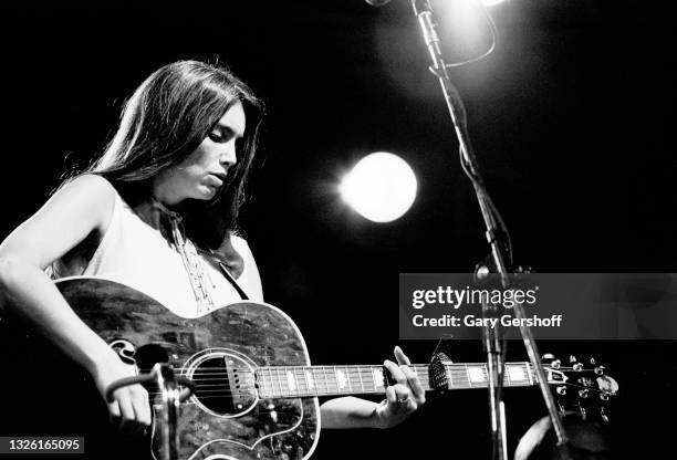
[[[92,372],[96,388],[104,399],[106,388],[111,384],[134,375],[134,367],[123,363],[112,351],[111,357],[97,363]],[[148,391],[143,386],[136,384],[118,388],[113,393],[113,402],[106,401],[113,425],[128,433],[143,432],[150,426]]]

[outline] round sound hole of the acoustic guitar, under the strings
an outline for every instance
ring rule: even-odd
[[[195,396],[205,410],[217,416],[235,417],[256,404],[253,370],[237,356],[208,356],[200,359],[194,369]]]

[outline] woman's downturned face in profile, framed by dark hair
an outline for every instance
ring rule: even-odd
[[[186,198],[212,199],[223,186],[228,169],[238,160],[236,142],[244,136],[244,109],[237,102],[195,151],[157,176],[155,198],[165,205],[176,205]]]

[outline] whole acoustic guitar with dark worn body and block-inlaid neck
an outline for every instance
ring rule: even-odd
[[[306,459],[320,437],[317,397],[383,395],[392,385],[383,365],[311,366],[301,332],[272,305],[238,302],[184,318],[114,281],[74,276],[56,286],[125,363],[140,373],[168,363],[195,383],[196,393],[180,408],[181,459]],[[410,367],[426,390],[488,387],[483,363],[438,356]],[[570,394],[584,391],[585,398],[603,404],[617,390],[602,366],[562,366],[550,359],[545,372],[559,394],[573,388]],[[503,383],[532,386],[535,373],[530,363],[507,363]],[[148,390],[152,397],[158,394]],[[150,430],[149,449],[157,459],[160,431]]]

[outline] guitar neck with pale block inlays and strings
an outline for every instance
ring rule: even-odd
[[[426,391],[440,389],[433,385],[427,364],[409,366]],[[487,388],[486,363],[445,363],[447,386],[444,389]],[[506,363],[503,386],[535,385],[529,363]],[[257,369],[259,396],[284,398],[302,396],[337,396],[384,394],[388,386],[384,366],[274,366]]]

